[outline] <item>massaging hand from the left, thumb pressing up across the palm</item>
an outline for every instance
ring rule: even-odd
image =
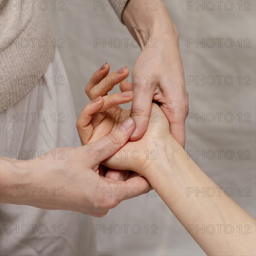
[[[101,102],[91,105],[93,104],[99,106]],[[129,118],[110,134],[90,145],[56,148],[40,158],[15,161],[18,168],[15,167],[13,175],[17,173],[17,169],[23,173],[22,179],[15,181],[15,189],[19,184],[23,194],[26,187],[28,191],[36,188],[35,193],[20,198],[6,193],[1,197],[1,202],[26,204],[42,209],[72,210],[101,217],[121,201],[148,192],[150,185],[143,177],[116,181],[101,176],[98,168],[100,162],[109,157],[108,154],[113,155],[128,141],[134,129],[135,123]],[[4,179],[6,182],[8,180],[10,177]],[[7,187],[6,183],[3,185]],[[40,190],[41,193],[38,193],[39,188],[44,188]],[[54,188],[56,195],[53,194]],[[136,193],[133,192],[134,188]]]

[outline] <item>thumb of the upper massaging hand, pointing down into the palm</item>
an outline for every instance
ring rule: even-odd
[[[148,120],[151,112],[154,88],[148,85],[134,87],[134,100],[131,108],[131,117],[136,122],[136,128],[130,141],[139,140],[148,128]]]

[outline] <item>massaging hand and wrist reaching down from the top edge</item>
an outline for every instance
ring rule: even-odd
[[[177,29],[162,0],[140,0],[139,10],[135,2],[129,0],[122,15],[142,50],[132,72],[136,79],[132,80],[132,87],[126,88],[135,94],[131,116],[135,117],[136,128],[130,140],[137,141],[145,133],[148,126],[145,116],[150,115],[154,100],[160,103],[171,134],[184,148],[189,101]]]

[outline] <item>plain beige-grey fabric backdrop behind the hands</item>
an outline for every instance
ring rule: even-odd
[[[77,115],[88,103],[84,87],[94,70],[101,67],[105,61],[110,63],[111,70],[125,65],[132,70],[140,53],[139,48],[133,47],[131,43],[128,43],[128,47],[125,46],[122,39],[131,37],[114,11],[110,11],[108,7],[104,10],[104,4],[107,5],[108,2],[103,1],[101,7],[95,11],[96,2],[98,4],[99,1],[65,0],[62,7],[64,11],[48,8],[56,35],[56,46],[62,41],[57,40],[65,40],[62,45],[64,48],[59,48],[59,51],[72,87]],[[188,4],[196,2],[202,4],[202,1],[165,1],[179,31],[186,82],[188,76],[193,78],[196,75],[199,78],[211,75],[216,79],[213,85],[209,85],[212,82],[210,77],[205,85],[200,81],[198,85],[195,81],[189,84],[187,82],[191,118],[186,122],[186,150],[198,150],[199,153],[203,150],[223,150],[219,151],[220,159],[218,151],[215,151],[213,159],[210,159],[212,151],[208,151],[204,159],[201,155],[192,157],[220,187],[230,188],[227,193],[233,191],[232,198],[255,216],[255,1],[242,1],[241,11],[239,1],[235,0],[228,1],[229,3],[224,0],[220,10],[216,1],[205,1],[205,7],[208,9],[212,8],[212,4],[208,2],[215,4],[212,11],[207,8],[203,11],[202,7],[198,7],[198,10],[191,7],[188,10]],[[232,8],[232,4],[233,9],[226,10]],[[250,6],[247,7],[248,5]],[[119,38],[123,44],[119,48],[113,45],[103,47],[102,44],[94,47],[94,39],[97,38],[105,38],[106,41],[109,41],[109,38]],[[208,47],[212,45],[212,40],[208,40],[205,47],[196,47],[195,44],[188,47],[188,38],[198,38],[199,41],[202,41],[202,38],[214,39],[216,46]],[[216,38],[223,39],[220,41],[221,47],[218,47]],[[224,41],[228,38],[234,40],[233,47],[225,46]],[[249,40],[243,41],[246,38]],[[242,40],[242,47],[239,47],[239,39]],[[118,41],[115,42],[118,45]],[[244,47],[247,42],[250,48]],[[229,45],[230,40],[226,43]],[[223,76],[220,84],[216,75]],[[227,84],[230,77],[227,77],[226,83],[224,81],[224,77],[228,75],[234,79],[232,85]],[[242,85],[239,85],[237,79],[240,75]],[[248,77],[250,85],[244,85]],[[204,113],[206,120],[192,118],[196,113],[200,116]],[[215,115],[215,121],[210,122],[213,115],[209,113]],[[216,113],[223,113],[219,114],[220,122]],[[231,115],[225,116],[227,113],[234,116],[233,121],[228,122]],[[241,122],[239,115],[242,115]],[[247,117],[249,118],[246,119]],[[246,120],[250,122],[245,122]],[[230,160],[228,158],[231,153],[227,150],[234,153]],[[239,150],[242,150],[241,160],[236,153]],[[247,157],[250,159],[244,159],[247,154],[250,154]],[[115,234],[119,231],[118,227],[112,234],[109,234],[108,230],[105,234],[102,230],[92,234],[97,238],[100,255],[205,255],[161,199],[154,197],[153,192],[148,196],[122,202],[116,209],[110,210],[107,216],[95,218],[94,222],[105,224],[106,228],[115,224],[122,227],[120,234]],[[130,225],[127,234],[122,226],[124,224]],[[139,225],[141,232],[134,234],[137,229],[132,232],[132,225]],[[150,228],[151,225],[156,225],[157,234],[146,234],[145,225],[149,225],[149,233],[155,227]]]

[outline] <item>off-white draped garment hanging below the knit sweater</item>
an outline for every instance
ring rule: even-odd
[[[1,155],[26,160],[33,157],[32,150],[36,157],[43,150],[80,145],[71,91],[58,51],[41,84],[0,117]],[[63,192],[57,189],[56,195]],[[40,190],[40,195],[43,193]],[[72,211],[0,204],[0,255],[95,255],[91,220]]]

